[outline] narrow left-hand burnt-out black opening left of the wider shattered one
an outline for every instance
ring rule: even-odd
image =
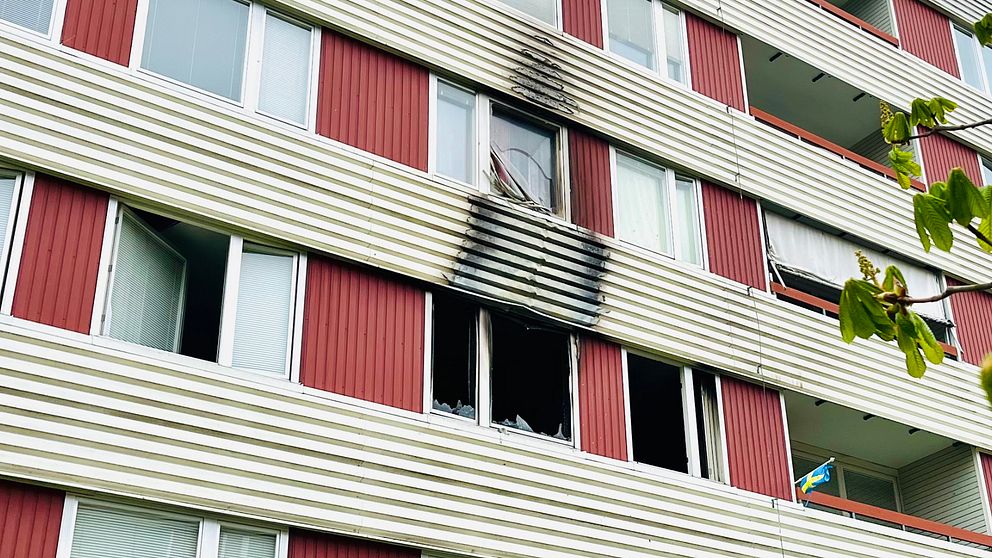
[[[434,297],[431,363],[437,411],[476,417],[478,316],[478,307],[464,300]]]

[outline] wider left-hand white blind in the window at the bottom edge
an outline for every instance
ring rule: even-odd
[[[196,520],[80,505],[69,554],[70,558],[196,558],[199,533]]]

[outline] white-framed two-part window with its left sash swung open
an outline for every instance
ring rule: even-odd
[[[285,376],[300,256],[121,207],[102,333]]]

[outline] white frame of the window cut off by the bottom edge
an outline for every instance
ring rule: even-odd
[[[70,558],[72,553],[72,539],[76,530],[76,512],[79,510],[80,504],[183,521],[196,521],[200,526],[200,532],[197,537],[197,558],[218,558],[221,527],[275,535],[276,553],[273,558],[287,558],[289,555],[289,529],[286,527],[272,527],[251,522],[242,523],[237,520],[213,515],[201,515],[192,510],[172,511],[160,507],[144,507],[76,494],[66,494],[62,505],[62,523],[59,526],[59,542],[55,551],[56,558]]]

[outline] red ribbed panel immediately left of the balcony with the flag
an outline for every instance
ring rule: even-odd
[[[792,473],[778,391],[730,377],[720,379],[730,484],[792,500]]]

